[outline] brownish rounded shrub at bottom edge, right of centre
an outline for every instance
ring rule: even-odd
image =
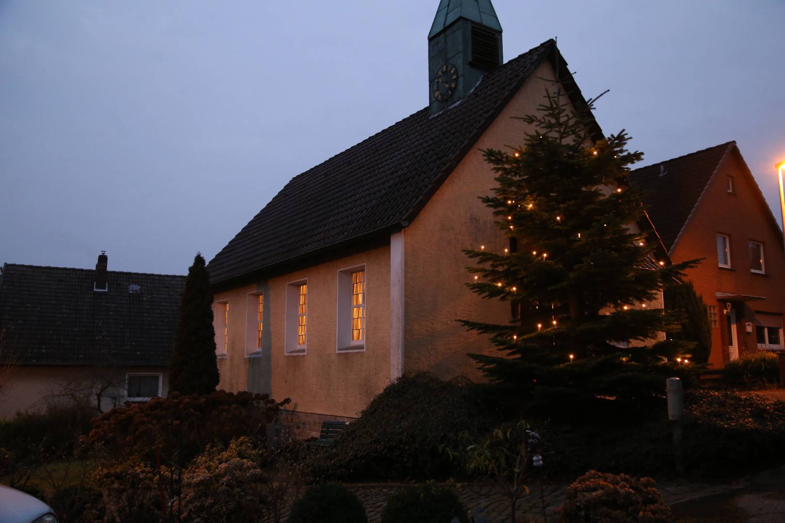
[[[652,478],[601,474],[590,470],[567,489],[557,510],[563,523],[668,523],[670,508]]]

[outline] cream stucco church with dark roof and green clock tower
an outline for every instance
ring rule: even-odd
[[[522,143],[515,118],[559,82],[586,100],[553,40],[504,63],[491,0],[441,0],[428,41],[428,106],[294,177],[210,261],[219,388],[316,423],[404,373],[480,379],[467,353],[494,348],[456,320],[511,318],[465,285],[462,249],[508,246],[478,199],[495,186],[480,150]]]

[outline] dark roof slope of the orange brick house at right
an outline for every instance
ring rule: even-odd
[[[644,204],[670,252],[722,158],[736,142],[722,143],[630,173],[630,183],[644,191]]]

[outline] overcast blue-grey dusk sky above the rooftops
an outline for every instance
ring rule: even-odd
[[[291,177],[428,104],[438,0],[0,0],[0,263],[184,274]],[[737,140],[779,216],[783,0],[495,0],[646,163]],[[644,164],[641,164],[644,165]]]

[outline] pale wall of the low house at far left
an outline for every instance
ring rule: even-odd
[[[13,369],[8,380],[8,389],[0,396],[0,419],[13,417],[16,412],[35,411],[46,406],[46,398],[61,394],[64,387],[79,387],[84,390],[91,383],[114,383],[118,390],[115,395],[122,404],[125,397],[126,374],[161,374],[162,396],[169,391],[169,371],[129,367],[120,369],[90,369],[86,367],[27,367]],[[95,402],[95,396],[90,398]],[[101,409],[106,412],[112,408],[111,398],[104,394]]]

